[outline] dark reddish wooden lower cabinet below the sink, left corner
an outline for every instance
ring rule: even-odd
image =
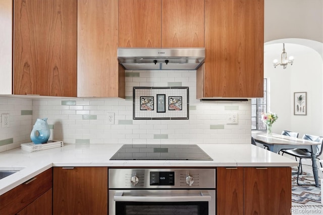
[[[0,196],[0,214],[51,214],[52,169]]]

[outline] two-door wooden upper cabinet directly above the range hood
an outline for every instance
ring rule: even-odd
[[[204,0],[119,0],[119,47],[204,47]]]

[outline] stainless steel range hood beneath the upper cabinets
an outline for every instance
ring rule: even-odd
[[[196,70],[204,58],[205,48],[118,48],[126,70]]]

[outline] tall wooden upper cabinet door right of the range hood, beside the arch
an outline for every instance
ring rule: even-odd
[[[203,97],[263,96],[263,0],[205,0]]]

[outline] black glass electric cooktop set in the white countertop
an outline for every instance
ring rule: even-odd
[[[125,144],[111,160],[213,160],[195,144]]]

